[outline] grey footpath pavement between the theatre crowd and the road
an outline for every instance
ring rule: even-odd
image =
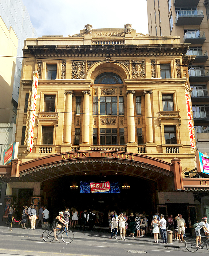
[[[96,227],[94,231],[89,231],[88,227],[85,231],[79,230],[79,227],[75,229],[69,229],[73,231],[75,240],[85,240],[92,242],[105,242],[105,241],[114,241],[119,243],[127,243],[127,244],[138,244],[138,245],[156,245],[156,246],[166,246],[166,247],[177,247],[177,248],[185,248],[185,242],[179,242],[173,239],[172,244],[163,244],[162,239],[159,238],[159,243],[155,243],[153,236],[152,237],[144,237],[144,238],[131,238],[129,236],[126,237],[125,241],[120,240],[120,235],[118,239],[112,238],[111,234],[108,233],[108,229],[105,227]],[[10,236],[24,236],[24,237],[35,237],[40,238],[42,240],[43,229],[41,227],[36,227],[35,230],[31,230],[30,227],[27,229],[21,228],[19,225],[12,225],[12,230],[10,230],[10,226],[6,224],[2,224],[0,228],[0,235],[10,235]],[[129,234],[129,232],[127,232]]]

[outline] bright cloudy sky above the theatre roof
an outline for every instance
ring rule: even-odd
[[[124,28],[132,24],[137,33],[148,33],[146,0],[22,0],[39,37],[75,35],[86,24],[96,28]]]

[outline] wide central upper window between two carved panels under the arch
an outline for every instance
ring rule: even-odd
[[[117,115],[117,97],[100,97],[100,115]]]

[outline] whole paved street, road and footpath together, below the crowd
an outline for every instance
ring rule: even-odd
[[[0,256],[4,255],[77,255],[77,256],[123,256],[130,253],[147,255],[164,256],[164,255],[188,255],[185,244],[174,241],[174,246],[180,248],[165,247],[162,240],[159,244],[154,243],[153,238],[126,238],[126,241],[109,239],[110,235],[101,230],[93,232],[73,230],[75,239],[70,244],[65,244],[61,238],[59,241],[50,243],[44,242],[41,234],[43,230],[22,230],[13,228],[9,231],[8,227],[1,227],[0,232]],[[169,246],[169,245],[168,245]],[[202,255],[208,253],[205,249],[198,250],[194,255]],[[191,253],[190,253],[191,254]],[[133,254],[130,254],[133,255]]]

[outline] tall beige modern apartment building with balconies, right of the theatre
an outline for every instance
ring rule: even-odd
[[[150,36],[179,36],[196,55],[189,69],[189,85],[196,144],[209,155],[209,3],[208,0],[147,0]]]

